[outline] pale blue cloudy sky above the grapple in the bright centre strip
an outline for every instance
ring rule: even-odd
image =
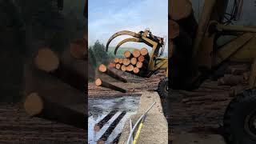
[[[97,39],[106,45],[110,36],[120,30],[138,32],[149,28],[159,37],[168,36],[168,0],[89,0],[89,45]],[[110,46],[116,46],[127,36],[115,38]],[[134,42],[122,46],[138,47]],[[166,45],[167,49],[167,45]]]

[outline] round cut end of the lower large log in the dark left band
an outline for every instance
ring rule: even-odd
[[[26,97],[24,108],[30,116],[38,115],[43,110],[43,100],[37,93],[32,93]]]

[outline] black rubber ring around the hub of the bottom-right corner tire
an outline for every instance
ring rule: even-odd
[[[224,127],[230,144],[255,144],[256,138],[245,130],[246,117],[256,110],[256,95],[248,92],[238,94],[226,110]]]

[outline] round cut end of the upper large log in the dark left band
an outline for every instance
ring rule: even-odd
[[[39,70],[51,72],[58,69],[59,58],[50,48],[42,48],[38,50],[38,54],[34,58],[34,64]]]

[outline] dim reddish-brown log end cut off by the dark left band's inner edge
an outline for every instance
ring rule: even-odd
[[[86,41],[83,39],[78,39],[74,42],[71,42],[70,54],[74,58],[86,60],[86,57],[87,57]]]

